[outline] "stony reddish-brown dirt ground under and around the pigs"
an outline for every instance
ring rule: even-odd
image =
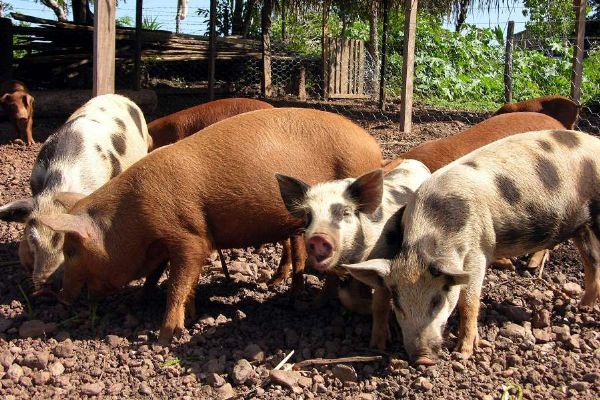
[[[162,98],[160,114],[184,106]],[[187,100],[188,102],[190,100]],[[351,114],[377,138],[385,155],[446,136],[483,115],[417,110],[414,131],[399,135],[393,111]],[[149,118],[150,119],[150,118]],[[37,120],[44,139],[61,120]],[[29,194],[28,179],[40,145],[27,148],[0,125],[0,204]],[[446,333],[442,361],[414,368],[406,362],[398,328],[380,360],[270,371],[291,351],[289,363],[325,357],[373,356],[370,317],[339,304],[314,309],[322,277],[306,276],[307,291],[288,294],[289,282],[269,288],[280,249],[226,251],[234,281],[224,280],[216,258],[197,291],[199,317],[170,347],[156,344],[164,285],[141,304],[140,282],[101,301],[71,308],[31,299],[17,261],[22,228],[0,223],[0,398],[293,398],[293,399],[597,399],[600,396],[600,309],[577,307],[583,267],[570,243],[553,251],[543,270],[488,271],[483,289],[480,348],[469,360],[452,353],[457,316]],[[285,367],[284,367],[285,369]]]

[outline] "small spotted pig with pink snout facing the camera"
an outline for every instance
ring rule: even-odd
[[[278,174],[277,179],[288,211],[295,213],[300,209],[306,215],[310,263],[317,270],[331,271],[340,263],[393,257],[398,250],[400,211],[430,175],[423,163],[404,160],[385,177],[378,169],[358,178],[312,187],[285,175]],[[331,285],[331,281],[327,282]],[[381,307],[377,300],[371,305],[362,300],[366,296],[354,295],[360,290],[353,283],[342,286],[337,293],[342,305],[360,314],[369,314],[371,307]],[[373,329],[378,335],[371,338],[371,346],[380,346],[379,342],[387,339],[379,335],[384,328]]]

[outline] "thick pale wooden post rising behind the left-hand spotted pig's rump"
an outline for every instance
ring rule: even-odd
[[[94,2],[93,96],[115,92],[115,0]]]

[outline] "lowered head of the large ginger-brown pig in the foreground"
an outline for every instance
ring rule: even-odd
[[[102,231],[88,214],[40,215],[38,220],[64,234],[63,286],[59,295],[62,302],[74,302],[84,285],[91,297],[112,290]]]

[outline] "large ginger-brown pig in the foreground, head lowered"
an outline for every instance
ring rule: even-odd
[[[184,330],[205,259],[216,248],[275,242],[300,232],[276,172],[309,184],[358,176],[381,166],[379,145],[346,118],[273,108],[227,118],[151,152],[68,213],[41,224],[65,233],[61,300],[84,286],[92,297],[155,275],[169,261],[160,343]],[[302,262],[298,265],[303,265]]]

